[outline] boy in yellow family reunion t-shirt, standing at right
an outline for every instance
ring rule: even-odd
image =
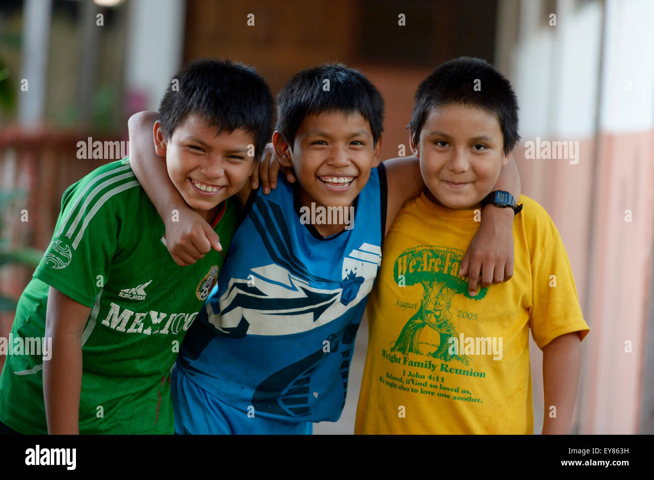
[[[521,195],[511,280],[470,295],[458,276],[481,206],[502,196],[489,194],[517,123],[511,85],[483,60],[443,63],[419,86],[409,141],[428,190],[385,239],[355,433],[531,434],[529,329],[543,351],[543,434],[570,432],[589,327],[547,212]]]

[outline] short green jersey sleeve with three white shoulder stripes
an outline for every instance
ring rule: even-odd
[[[120,193],[139,185],[129,166],[102,170],[64,192],[52,241],[33,275],[88,307],[109,280]]]

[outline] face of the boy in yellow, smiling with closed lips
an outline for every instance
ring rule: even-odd
[[[419,144],[413,139],[410,143],[420,159],[430,198],[460,210],[480,206],[510,155],[504,155],[504,136],[496,116],[462,104],[432,110],[422,125]]]

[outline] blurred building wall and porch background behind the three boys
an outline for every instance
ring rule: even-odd
[[[357,67],[387,102],[388,158],[409,150],[404,128],[422,78],[470,55],[513,82],[523,193],[559,228],[591,326],[574,429],[653,433],[651,18],[648,0],[3,0],[0,336],[48,245],[63,190],[120,158],[80,159],[78,142],[126,142],[129,116],[156,110],[185,61],[243,61],[273,93],[306,67]],[[528,142],[543,141],[578,142],[579,155],[532,158]],[[364,323],[343,417],[316,433],[353,432],[366,345]],[[542,353],[531,347],[540,433]]]

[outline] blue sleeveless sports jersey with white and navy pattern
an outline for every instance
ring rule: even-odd
[[[257,417],[336,421],[381,263],[386,194],[380,165],[354,200],[352,228],[322,238],[301,223],[296,187],[284,176],[269,195],[253,191],[182,344],[181,373]]]

